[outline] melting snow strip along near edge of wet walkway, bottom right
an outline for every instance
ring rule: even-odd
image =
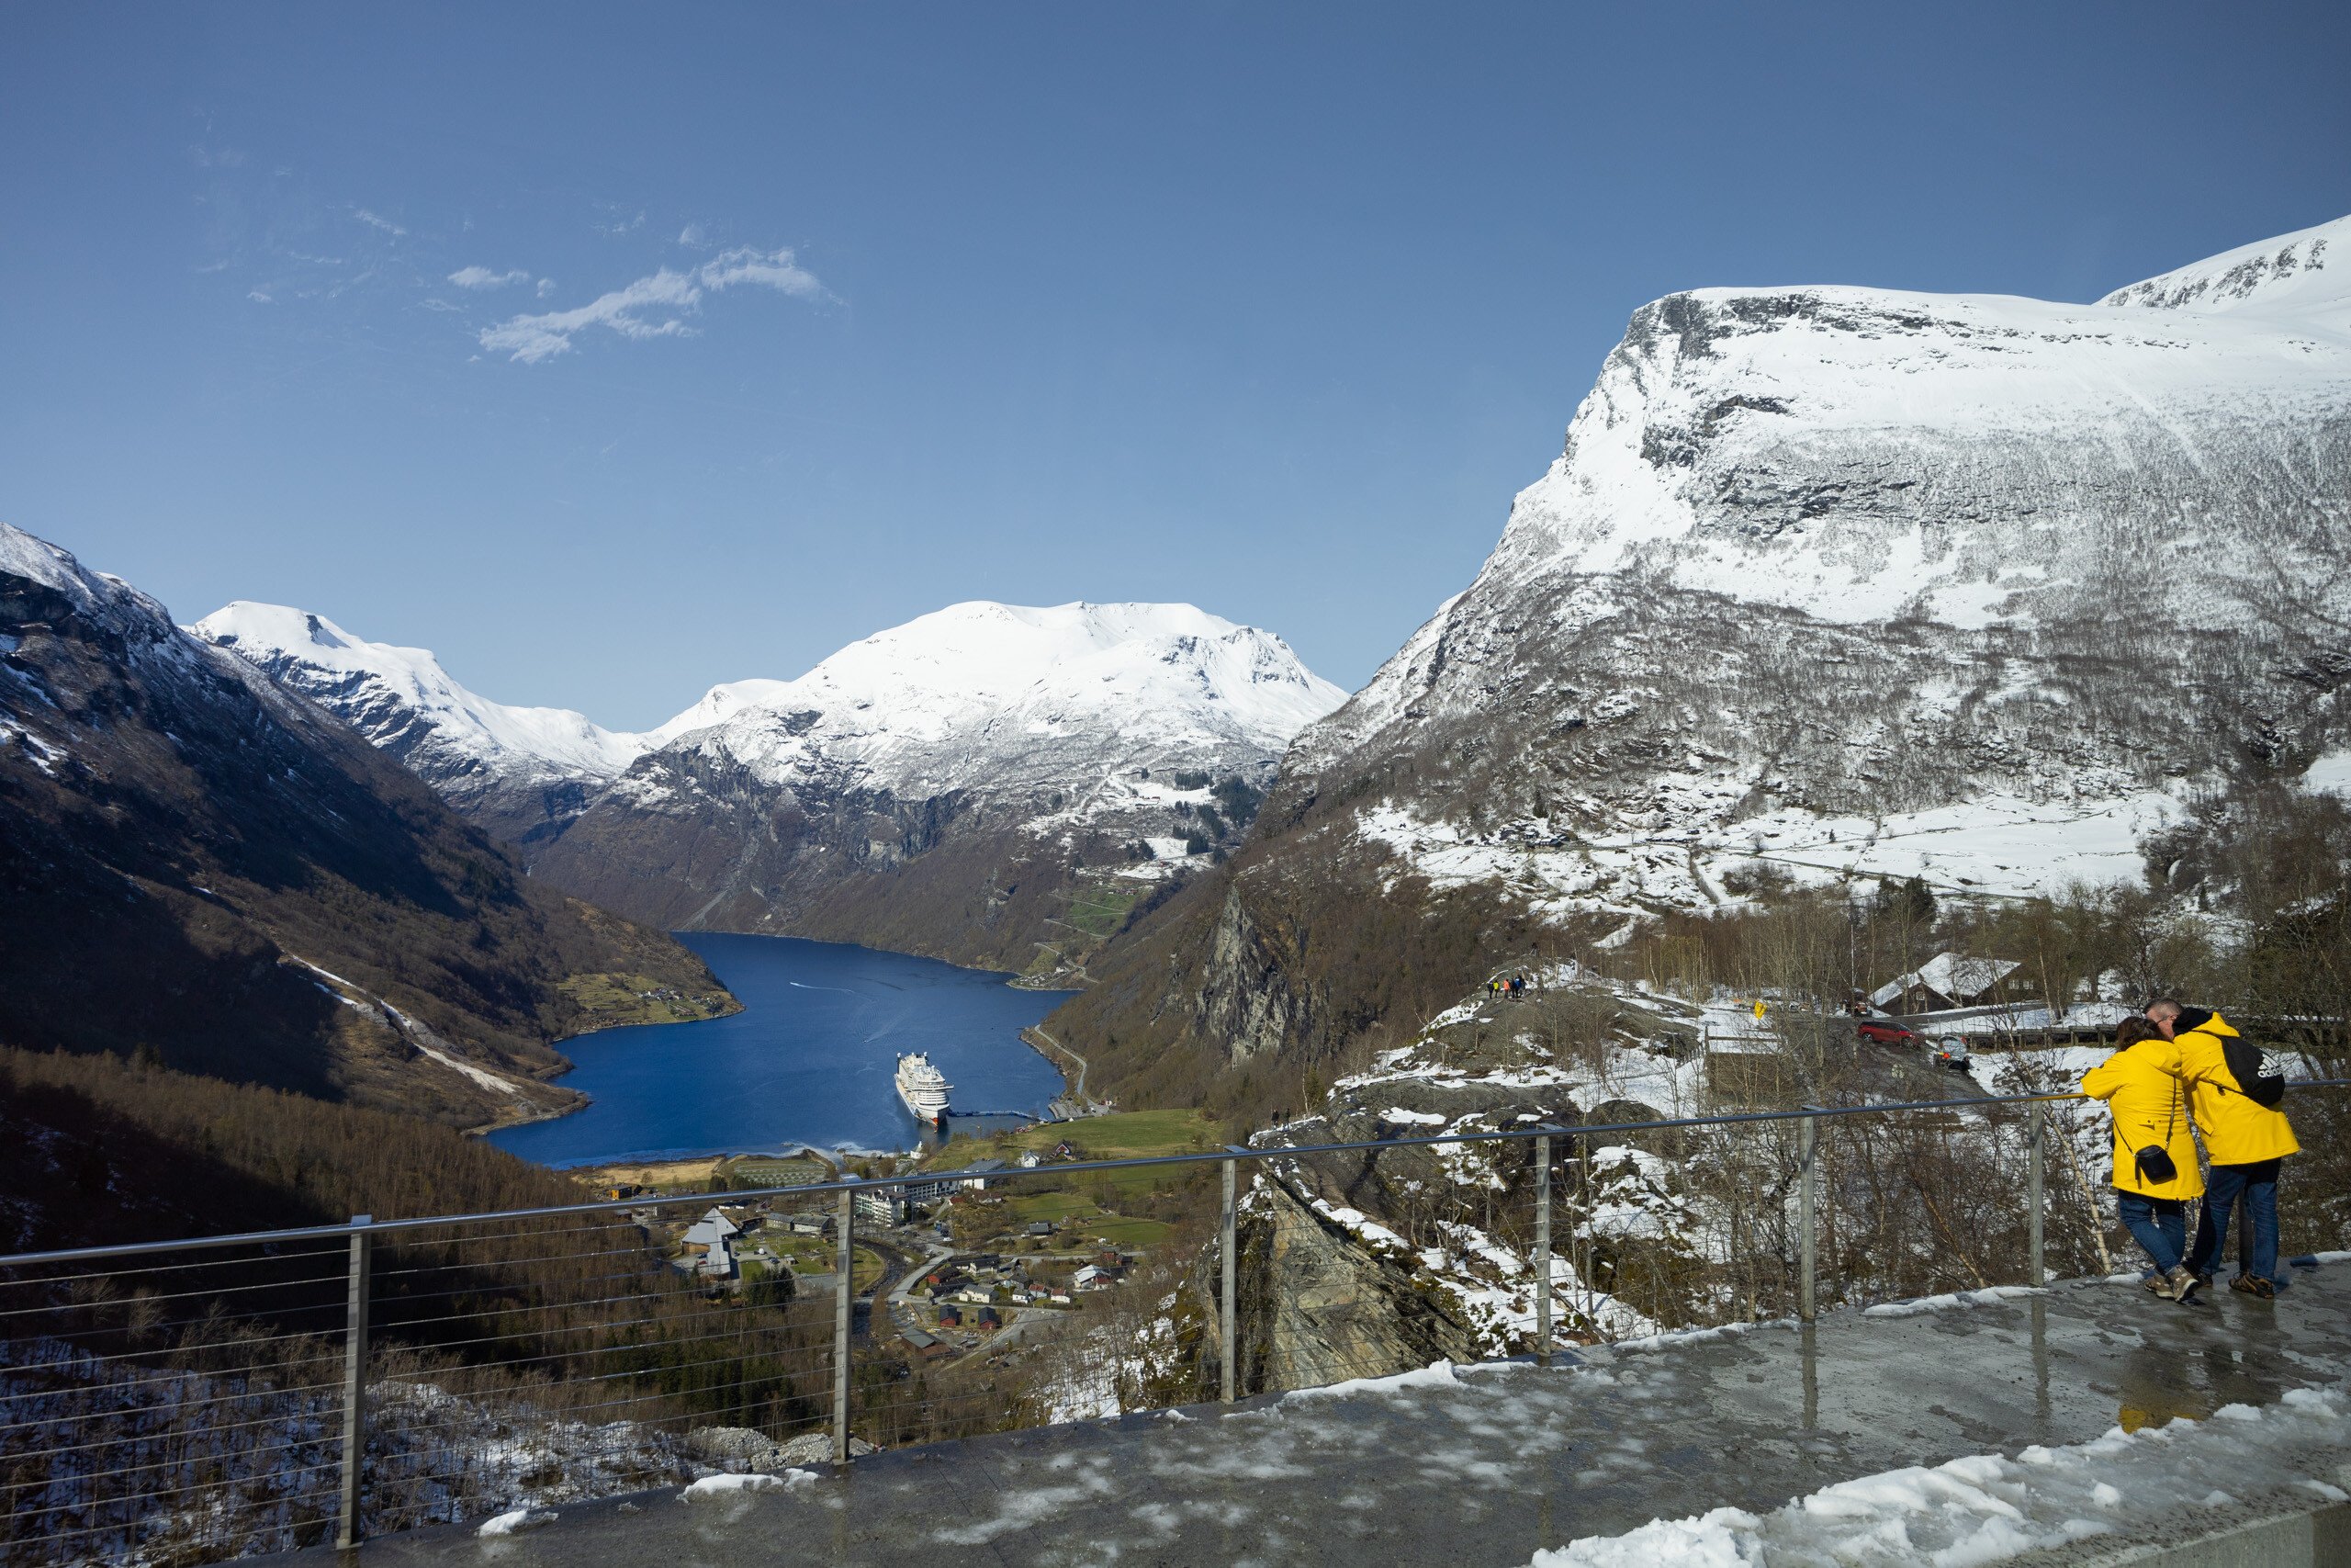
[[[2092,1535],[2165,1540],[2182,1509],[2327,1479],[2351,1460],[2351,1399],[2290,1389],[2276,1406],[2224,1406],[2090,1443],[1984,1453],[1841,1481],[1770,1514],[1714,1509],[1538,1552],[1531,1568],[1761,1568],[1763,1563],[1996,1563]]]

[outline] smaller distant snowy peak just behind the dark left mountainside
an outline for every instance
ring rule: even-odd
[[[611,778],[644,750],[569,708],[510,708],[461,686],[428,649],[367,642],[287,604],[237,599],[188,628],[327,703],[435,785]]]

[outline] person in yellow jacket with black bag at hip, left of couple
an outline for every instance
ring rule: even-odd
[[[2196,1274],[2186,1267],[2186,1201],[2203,1194],[2203,1173],[2179,1046],[2146,1018],[2125,1018],[2114,1032],[2114,1056],[2083,1074],[2081,1091],[2104,1100],[2114,1117],[2114,1206],[2156,1265],[2146,1288],[2189,1300]]]

